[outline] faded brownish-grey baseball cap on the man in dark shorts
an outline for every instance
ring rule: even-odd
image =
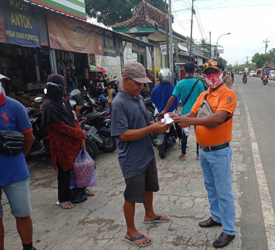
[[[122,76],[127,76],[140,83],[152,82],[146,76],[144,66],[139,62],[127,62],[121,72]]]

